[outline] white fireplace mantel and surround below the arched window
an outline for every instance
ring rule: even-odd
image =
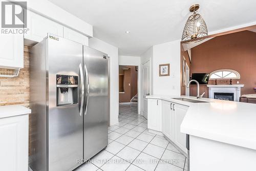
[[[214,93],[233,93],[234,101],[239,101],[241,96],[241,88],[244,84],[219,84],[219,85],[207,85],[209,88],[209,98],[214,98]]]

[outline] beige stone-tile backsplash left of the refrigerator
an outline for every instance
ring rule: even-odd
[[[24,46],[24,68],[19,75],[0,77],[0,105],[21,104],[29,107],[29,48]],[[0,73],[8,73],[8,70],[0,69]]]

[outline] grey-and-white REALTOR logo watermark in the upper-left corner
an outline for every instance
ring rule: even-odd
[[[26,34],[27,2],[1,2],[1,34]]]

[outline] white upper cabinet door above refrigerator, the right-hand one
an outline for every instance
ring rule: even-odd
[[[88,46],[88,37],[72,29],[64,27],[64,38],[79,42],[79,44]]]

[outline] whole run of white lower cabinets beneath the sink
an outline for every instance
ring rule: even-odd
[[[180,132],[180,125],[186,115],[188,106],[148,98],[148,129],[161,131],[173,141],[183,152],[186,149],[186,134]]]

